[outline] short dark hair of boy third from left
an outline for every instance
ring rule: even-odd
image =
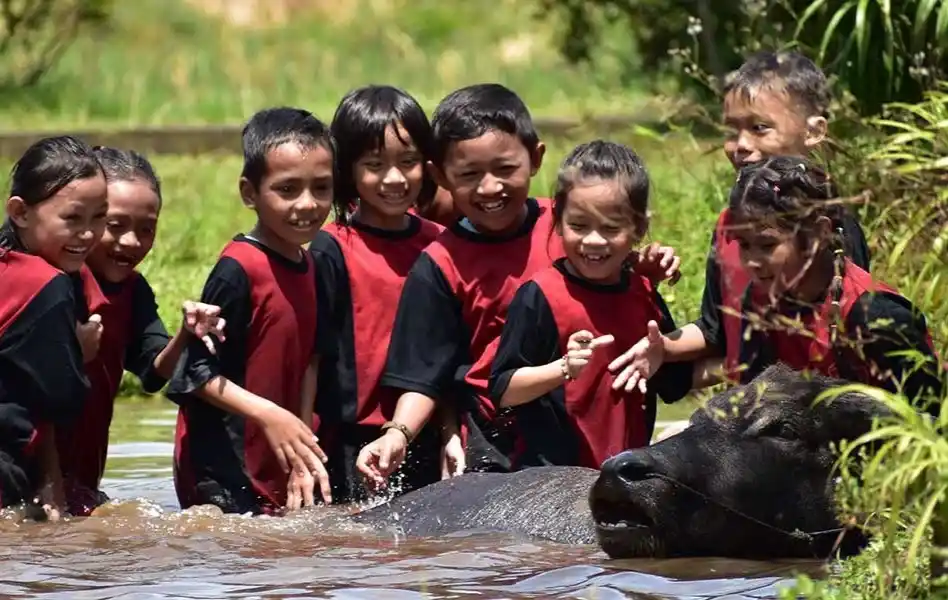
[[[332,152],[335,163],[336,143],[325,123],[301,108],[265,108],[250,117],[244,125],[244,168],[241,177],[258,187],[267,174],[267,155],[277,146],[288,142],[304,148],[322,146]]]

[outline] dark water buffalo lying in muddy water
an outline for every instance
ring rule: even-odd
[[[683,432],[607,460],[601,471],[534,467],[469,473],[360,513],[406,535],[494,530],[596,543],[613,558],[823,557],[865,545],[840,538],[832,442],[867,432],[881,405],[842,382],[777,365],[713,397]]]

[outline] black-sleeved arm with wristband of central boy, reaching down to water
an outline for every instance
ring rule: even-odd
[[[402,391],[392,421],[396,427],[359,453],[359,470],[384,484],[405,450],[434,414],[468,354],[461,304],[441,268],[423,252],[402,288],[388,358],[380,384]]]

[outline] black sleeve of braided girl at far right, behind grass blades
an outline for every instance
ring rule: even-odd
[[[847,326],[864,340],[862,352],[869,368],[886,374],[881,387],[895,391],[896,382],[904,380],[902,392],[909,398],[919,393],[941,397],[938,359],[928,345],[925,317],[911,302],[894,294],[865,294],[853,305]],[[929,361],[919,367],[917,357],[902,353],[918,353]]]

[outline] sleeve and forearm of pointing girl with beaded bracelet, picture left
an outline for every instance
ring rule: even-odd
[[[490,397],[498,407],[525,404],[563,385],[566,373],[550,304],[540,287],[528,281],[507,309],[491,363]]]

